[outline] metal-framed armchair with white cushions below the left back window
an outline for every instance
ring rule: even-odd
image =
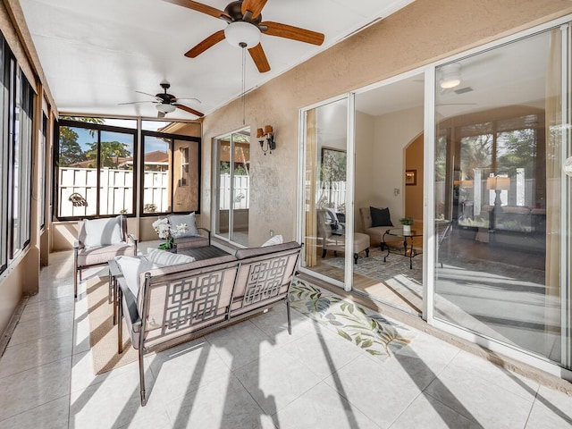
[[[78,274],[88,266],[104,265],[121,255],[137,256],[138,239],[127,232],[123,215],[78,223],[78,240],[73,243],[73,295],[78,298]],[[111,295],[110,295],[111,297]]]

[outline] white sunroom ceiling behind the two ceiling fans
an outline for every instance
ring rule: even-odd
[[[324,45],[266,36],[261,43],[272,68],[259,73],[247,55],[245,88],[256,88],[368,23],[413,0],[269,0],[263,21],[324,33]],[[201,2],[223,10],[228,0]],[[221,42],[195,59],[184,56],[225,21],[162,0],[21,0],[47,83],[62,113],[156,117],[153,101],[136,93],[169,93],[204,114],[242,90],[239,48]],[[195,119],[180,109],[172,119]]]

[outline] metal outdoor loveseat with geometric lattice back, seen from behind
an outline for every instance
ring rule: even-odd
[[[291,333],[288,293],[299,254],[299,243],[290,241],[152,268],[139,273],[137,296],[127,275],[118,275],[118,352],[122,353],[125,315],[131,344],[139,350],[141,405],[147,403],[143,357],[149,352],[190,341],[282,300]]]

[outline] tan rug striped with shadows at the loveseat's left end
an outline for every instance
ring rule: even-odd
[[[88,291],[89,344],[95,374],[102,374],[119,366],[130,364],[138,358],[131,347],[125,321],[123,324],[123,352],[117,353],[117,326],[114,325],[114,307],[107,299],[107,276],[94,276],[86,280]]]

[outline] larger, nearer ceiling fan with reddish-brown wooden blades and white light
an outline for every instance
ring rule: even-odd
[[[290,38],[317,46],[324,43],[324,34],[322,33],[317,33],[309,29],[300,29],[299,27],[293,27],[280,22],[262,21],[261,11],[268,0],[234,1],[229,3],[224,8],[224,11],[191,0],[164,1],[188,7],[200,13],[206,13],[207,15],[214,16],[214,18],[226,21],[229,24],[225,29],[216,31],[198,43],[197,46],[192,47],[185,54],[185,56],[189,58],[197,57],[209,47],[226,39],[232,46],[247,47],[248,53],[254,63],[257,64],[258,71],[264,73],[265,71],[270,71],[270,64],[260,44],[261,33],[279,38]]]

